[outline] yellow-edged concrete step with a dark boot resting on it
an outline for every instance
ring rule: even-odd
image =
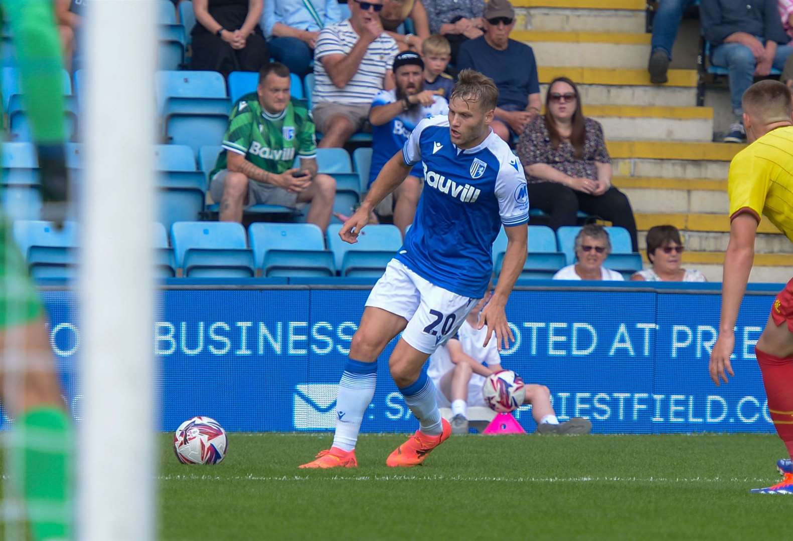
[[[542,59],[538,59],[542,61]],[[572,79],[586,105],[638,105],[658,107],[693,107],[696,105],[695,70],[669,70],[664,85],[649,82],[649,73],[642,69],[611,69],[596,67],[538,67],[543,99],[548,83],[557,77]]]

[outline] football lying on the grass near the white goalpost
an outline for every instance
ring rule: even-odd
[[[216,464],[226,455],[226,431],[209,417],[193,417],[174,433],[174,452],[182,464]]]

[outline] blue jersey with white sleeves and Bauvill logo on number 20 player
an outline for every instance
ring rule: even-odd
[[[424,189],[397,259],[431,284],[481,298],[501,225],[521,226],[529,219],[518,157],[492,132],[477,147],[454,146],[447,116],[419,122],[402,156],[408,166],[421,162]]]

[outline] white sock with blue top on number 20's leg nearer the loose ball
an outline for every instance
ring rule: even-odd
[[[347,360],[342,379],[339,382],[339,395],[336,397],[336,432],[333,447],[352,451],[361,431],[363,413],[374,397],[377,383],[377,362],[363,363],[360,360]]]

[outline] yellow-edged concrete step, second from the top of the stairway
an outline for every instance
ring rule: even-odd
[[[640,32],[534,30],[515,30],[510,37],[531,45],[538,63],[544,66],[645,69],[651,38]]]

